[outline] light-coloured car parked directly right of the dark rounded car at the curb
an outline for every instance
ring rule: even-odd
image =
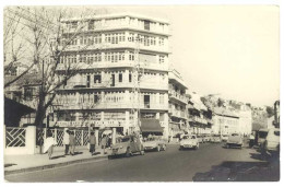
[[[143,142],[143,147],[145,151],[155,150],[155,151],[166,151],[166,141],[162,139],[162,137],[152,137],[147,138]]]

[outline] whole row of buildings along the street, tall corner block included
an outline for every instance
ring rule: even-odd
[[[230,112],[205,106],[171,68],[168,21],[109,14],[69,19],[62,24],[62,40],[78,26],[85,26],[62,52],[58,79],[64,78],[67,62],[80,65],[80,71],[56,90],[48,126],[116,129],[122,135],[141,130],[165,138],[185,132],[250,133],[248,108]],[[5,96],[36,105],[33,95],[40,83],[19,84],[5,89]],[[32,122],[31,118],[25,116],[21,124]]]

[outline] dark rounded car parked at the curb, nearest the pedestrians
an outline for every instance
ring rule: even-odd
[[[126,136],[117,139],[117,143],[111,147],[111,153],[109,157],[115,155],[125,155],[127,157],[140,153],[144,155],[144,147],[137,136]]]

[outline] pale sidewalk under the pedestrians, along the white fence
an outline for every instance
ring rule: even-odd
[[[84,148],[76,148],[75,155],[64,155],[63,150],[56,150],[52,154],[52,160],[48,159],[46,154],[34,155],[4,155],[4,174],[16,174],[32,171],[39,171],[46,168],[54,168],[74,163],[90,162],[94,160],[107,159],[110,153],[106,149],[107,154],[102,154],[102,149],[96,149],[96,153],[92,156],[88,150]]]

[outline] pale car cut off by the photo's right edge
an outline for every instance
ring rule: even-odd
[[[269,129],[268,136],[261,148],[263,149],[261,153],[271,153],[271,154],[280,153],[280,129],[279,128]]]

